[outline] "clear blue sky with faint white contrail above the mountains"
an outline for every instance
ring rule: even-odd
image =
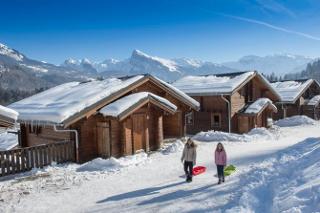
[[[1,0],[0,43],[30,58],[130,57],[213,62],[244,55],[320,56],[318,0]]]

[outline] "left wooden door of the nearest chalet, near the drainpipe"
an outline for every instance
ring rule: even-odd
[[[102,158],[111,157],[110,126],[107,122],[97,124],[98,154]]]

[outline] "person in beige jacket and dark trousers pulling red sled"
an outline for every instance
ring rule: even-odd
[[[197,146],[194,143],[194,141],[189,138],[187,143],[184,146],[182,156],[181,156],[181,162],[184,166],[184,172],[186,174],[186,181],[191,182],[192,181],[192,171],[193,166],[196,165],[196,159],[197,159]]]

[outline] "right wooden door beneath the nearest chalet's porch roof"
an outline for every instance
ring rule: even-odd
[[[132,115],[132,131],[133,131],[133,152],[144,149],[145,131],[146,131],[145,114]]]

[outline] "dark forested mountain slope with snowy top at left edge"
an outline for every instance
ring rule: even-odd
[[[52,87],[90,77],[87,73],[71,68],[30,59],[4,44],[0,44],[0,73],[1,89],[21,91]]]

